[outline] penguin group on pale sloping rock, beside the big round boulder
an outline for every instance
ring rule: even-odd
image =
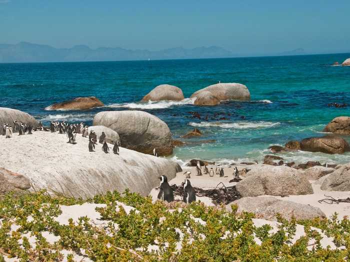
[[[88,151],[89,152],[95,152],[95,145],[97,145],[97,135],[96,133],[91,130],[88,134],[88,126],[84,125],[84,123],[80,124],[68,124],[66,121],[57,122],[57,121],[51,121],[50,122],[50,131],[52,133],[59,132],[59,134],[66,134],[68,137],[68,142],[70,144],[76,144],[76,134],[81,134],[82,137],[87,137],[88,135]],[[109,147],[106,142],[106,135],[104,132],[100,135],[98,142],[102,145],[102,151],[104,153],[109,153]],[[113,153],[116,155],[119,155],[119,144],[118,142],[115,142],[113,146]]]

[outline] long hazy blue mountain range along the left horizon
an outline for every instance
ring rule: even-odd
[[[86,45],[71,48],[54,48],[49,45],[20,42],[0,44],[0,62],[67,62],[67,61],[117,61],[181,58],[221,58],[234,55],[221,47],[182,47],[160,51],[128,50],[120,47],[91,49]]]

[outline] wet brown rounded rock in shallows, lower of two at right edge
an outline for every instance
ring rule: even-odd
[[[323,136],[305,138],[300,141],[300,149],[308,152],[343,154],[350,151],[349,144],[341,137]]]

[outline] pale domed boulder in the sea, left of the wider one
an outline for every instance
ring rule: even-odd
[[[152,91],[150,91],[142,98],[142,101],[181,101],[183,99],[183,93],[180,88],[174,85],[164,84],[156,86]]]

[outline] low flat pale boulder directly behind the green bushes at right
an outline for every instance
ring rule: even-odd
[[[291,220],[311,220],[314,218],[325,218],[325,214],[319,209],[309,205],[279,200],[273,197],[246,197],[238,199],[226,206],[231,211],[231,205],[238,206],[238,213],[254,213],[257,218],[276,221],[277,214],[282,218]]]

